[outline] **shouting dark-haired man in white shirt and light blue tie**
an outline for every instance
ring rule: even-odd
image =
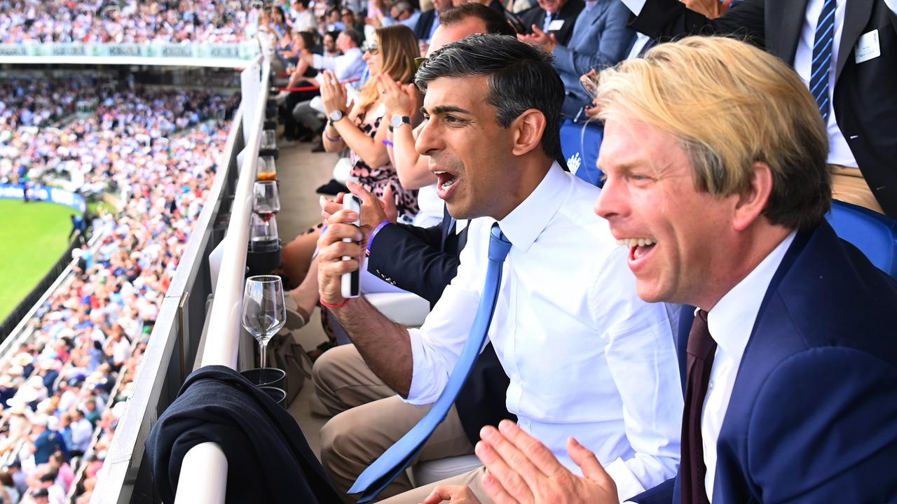
[[[449,407],[454,391],[491,341],[509,372],[505,400],[521,428],[559,455],[568,436],[582,436],[625,481],[622,497],[674,474],[679,421],[667,413],[682,403],[675,321],[666,305],[638,300],[623,269],[625,251],[591,212],[599,189],[553,161],[563,84],[551,56],[510,37],[474,35],[434,52],[415,83],[426,92],[417,150],[430,157],[448,212],[473,219],[457,276],[420,329],[397,326],[363,297],[344,300],[341,274],[359,262],[342,257],[361,256],[370,228],[347,224],[358,216],[343,210],[318,240],[322,303],[402,400],[435,403],[423,420],[445,414],[440,428],[457,425]],[[592,259],[559,265],[577,250]],[[398,399],[382,401],[390,400]],[[360,425],[369,406],[336,418]],[[431,432],[415,441],[423,453],[450,445],[441,437],[426,441]],[[350,438],[344,446],[368,442],[341,434]],[[482,474],[451,481],[484,498]],[[389,501],[420,502],[429,492],[423,487]]]

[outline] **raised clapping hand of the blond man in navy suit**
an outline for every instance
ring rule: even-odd
[[[512,421],[501,421],[498,429],[483,427],[480,436],[476,456],[488,471],[483,487],[497,504],[619,502],[614,480],[576,439],[567,441],[567,453],[584,477],[571,473],[551,450]]]

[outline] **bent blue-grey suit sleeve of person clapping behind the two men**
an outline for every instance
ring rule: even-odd
[[[597,32],[598,51],[586,54],[558,44],[553,51],[554,65],[570,74],[588,74],[591,69],[601,70],[616,65],[626,57],[632,45],[635,32],[626,27],[629,10],[621,2],[614,2],[607,8],[607,16],[602,21],[604,30]]]

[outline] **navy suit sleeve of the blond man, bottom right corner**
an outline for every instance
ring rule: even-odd
[[[895,419],[892,363],[843,347],[798,353],[760,389],[747,469],[767,502],[893,500]]]

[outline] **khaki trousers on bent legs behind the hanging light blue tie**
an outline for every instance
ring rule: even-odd
[[[430,411],[429,407],[403,402],[374,375],[351,344],[337,346],[321,355],[311,376],[318,399],[335,415],[321,429],[321,464],[335,490],[343,495],[368,465]],[[474,447],[452,406],[446,420],[433,431],[414,462],[470,453],[474,453]],[[401,474],[379,498],[386,499],[412,488],[408,476]],[[354,502],[348,496],[345,501]]]

